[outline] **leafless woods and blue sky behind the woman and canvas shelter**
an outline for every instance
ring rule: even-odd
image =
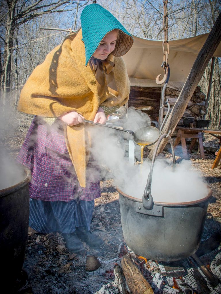
[[[16,109],[21,88],[33,69],[69,32],[42,30],[80,27],[82,9],[90,0],[0,0],[0,94],[2,109]],[[163,40],[162,0],[99,0],[133,35]],[[221,0],[169,0],[168,40],[211,31],[221,12]],[[103,20],[105,21],[105,19]],[[220,28],[221,29],[221,28]],[[206,94],[210,64],[200,81]],[[215,58],[207,119],[221,127],[221,58]]]

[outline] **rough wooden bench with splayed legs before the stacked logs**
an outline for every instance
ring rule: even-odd
[[[209,133],[209,134],[217,134],[221,136],[221,130],[211,130],[211,129],[203,129],[203,128],[184,128],[184,127],[177,127],[177,138],[174,143],[174,147],[177,146],[180,141],[183,149],[183,158],[188,159],[187,155],[187,145],[186,145],[186,138],[191,138],[190,143],[190,152],[192,152],[192,149],[198,139],[199,142],[199,149],[200,149],[200,157],[202,159],[205,159],[204,149],[203,149],[203,142],[202,137],[203,133]],[[212,168],[216,168],[220,162],[221,159],[221,147],[216,155],[216,158],[213,162]]]

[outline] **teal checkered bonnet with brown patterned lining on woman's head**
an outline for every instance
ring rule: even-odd
[[[82,36],[85,46],[86,66],[104,36],[115,29],[120,31],[116,47],[112,54],[122,56],[129,51],[133,44],[131,34],[122,24],[106,9],[99,4],[87,5],[81,14]]]

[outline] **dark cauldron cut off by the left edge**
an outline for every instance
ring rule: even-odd
[[[10,175],[8,175],[10,177]],[[31,172],[24,169],[23,180],[0,190],[1,280],[7,288],[22,268],[28,236],[29,191]]]

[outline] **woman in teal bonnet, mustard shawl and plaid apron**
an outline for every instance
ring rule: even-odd
[[[132,36],[98,4],[81,14],[82,29],[67,36],[34,69],[21,91],[18,110],[34,114],[17,161],[32,171],[29,226],[60,231],[70,252],[104,241],[90,232],[99,172],[90,158],[83,119],[105,123],[129,97],[129,78],[120,56]]]

